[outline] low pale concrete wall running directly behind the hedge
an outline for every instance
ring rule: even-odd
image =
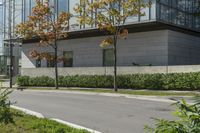
[[[59,68],[60,76],[72,75],[113,75],[112,67],[73,67]],[[188,73],[200,72],[200,65],[188,66],[151,66],[151,67],[118,67],[118,75],[127,74],[154,74],[154,73]],[[54,68],[22,68],[21,75],[37,77],[55,77]]]

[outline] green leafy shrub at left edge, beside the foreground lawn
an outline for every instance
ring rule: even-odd
[[[14,123],[13,113],[10,110],[11,102],[8,99],[8,95],[11,93],[12,91],[8,89],[0,90],[0,125]]]

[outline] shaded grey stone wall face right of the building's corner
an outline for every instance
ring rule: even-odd
[[[169,65],[200,64],[200,37],[180,32],[169,33]]]

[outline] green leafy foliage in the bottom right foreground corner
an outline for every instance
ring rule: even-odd
[[[146,126],[145,129],[151,133],[199,133],[200,132],[200,98],[196,98],[193,105],[187,104],[185,100],[176,103],[175,115],[179,120],[169,121],[156,119],[156,127]]]

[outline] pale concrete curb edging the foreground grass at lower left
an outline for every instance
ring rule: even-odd
[[[32,115],[32,116],[35,116],[37,118],[45,118],[43,114],[35,112],[35,111],[32,111],[32,110],[28,110],[28,109],[17,107],[17,106],[13,106],[13,105],[11,105],[10,107],[13,108],[13,109],[22,111],[27,115]],[[56,121],[58,123],[61,123],[61,124],[64,124],[64,125],[76,128],[76,129],[87,130],[87,131],[89,131],[91,133],[102,133],[102,132],[99,132],[99,131],[96,131],[96,130],[93,130],[93,129],[90,129],[90,128],[87,128],[87,127],[76,125],[76,124],[73,124],[73,123],[70,123],[70,122],[67,122],[67,121],[63,121],[63,120],[60,120],[60,119],[56,119],[56,118],[49,118],[49,120],[53,120],[53,121]]]

